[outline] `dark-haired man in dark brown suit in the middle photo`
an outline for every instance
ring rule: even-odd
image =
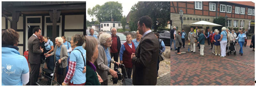
[[[143,16],[138,21],[138,30],[143,35],[135,53],[132,53],[133,85],[156,85],[159,42],[151,32],[152,20]]]

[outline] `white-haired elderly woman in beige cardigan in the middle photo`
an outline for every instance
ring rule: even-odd
[[[119,66],[120,63],[114,61],[114,59],[111,59],[110,56],[110,46],[112,44],[111,35],[108,33],[102,33],[100,34],[99,41],[100,44],[98,45],[98,58],[93,63],[96,67],[97,73],[102,78],[103,82],[101,85],[108,85],[108,73],[112,75],[113,78],[118,78],[117,72],[114,71],[109,67],[110,62],[117,64]]]

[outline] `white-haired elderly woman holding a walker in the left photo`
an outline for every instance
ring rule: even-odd
[[[56,67],[56,72],[61,72],[63,75],[57,73],[57,82],[62,83],[64,82],[66,75],[66,67],[68,66],[68,50],[63,44],[63,39],[61,37],[55,38],[55,44],[56,46],[54,48],[54,51],[51,54],[47,54],[46,57],[54,55],[54,63],[57,61],[60,64]],[[62,68],[63,71],[58,71],[59,67]]]

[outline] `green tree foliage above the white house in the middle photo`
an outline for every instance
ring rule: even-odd
[[[102,21],[121,21],[123,6],[118,2],[106,2],[103,5],[95,5],[92,9],[88,8],[87,13],[93,17],[95,16],[99,22]]]

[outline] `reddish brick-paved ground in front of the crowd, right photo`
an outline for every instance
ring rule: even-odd
[[[204,55],[196,47],[196,53],[188,52],[188,41],[183,54],[171,50],[171,85],[255,85],[255,52],[249,48],[251,40],[243,47],[244,55],[239,54],[240,46],[236,44],[233,53],[222,58],[212,54],[205,41]],[[196,44],[197,45],[197,44]],[[173,45],[172,45],[173,48]]]

